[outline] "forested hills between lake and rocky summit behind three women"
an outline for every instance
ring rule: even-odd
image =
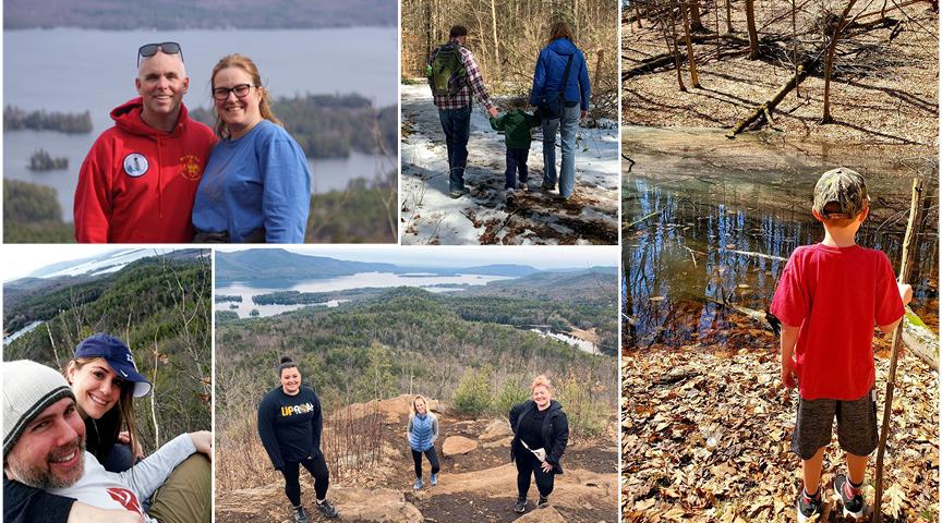
[[[302,308],[267,318],[217,318],[217,365],[225,362],[229,374],[244,374],[240,380],[257,379],[254,388],[262,391],[274,386],[276,373],[259,375],[255,369],[274,369],[278,358],[289,354],[299,362],[306,381],[343,403],[382,398],[410,387],[450,399],[458,378],[469,368],[490,368],[495,390],[511,375],[532,373],[561,376],[584,372],[606,385],[615,382],[616,366],[608,357],[592,356],[567,343],[500,325],[505,321],[555,321],[564,327],[578,324],[585,329],[604,329],[613,353],[613,340],[617,340],[614,305],[576,307],[515,299],[461,299],[397,288],[330,309]],[[220,394],[227,389],[221,387]],[[225,409],[222,396],[220,401]]]

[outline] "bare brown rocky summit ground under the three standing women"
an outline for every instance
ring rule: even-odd
[[[339,521],[403,523],[479,522],[577,522],[618,521],[618,448],[614,434],[602,439],[570,441],[560,461],[564,474],[556,476],[551,507],[536,509],[535,484],[523,514],[512,510],[517,497],[517,469],[510,464],[512,433],[506,418],[462,416],[428,401],[438,416],[435,442],[442,471],[438,485],[428,486],[428,461],[423,457],[425,486],[414,490],[412,455],[406,439],[411,396],[379,402],[383,415],[383,459],[355,478],[331,477],[327,499],[337,508]],[[350,405],[357,415],[371,412],[371,404]],[[442,446],[450,437],[475,441],[476,448],[445,455]],[[302,502],[312,521],[321,518],[313,508],[314,485],[302,474]],[[257,488],[227,490],[216,495],[217,523],[292,521],[283,483]]]

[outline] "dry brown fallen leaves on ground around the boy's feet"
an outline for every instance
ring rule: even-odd
[[[877,360],[882,422],[889,361]],[[789,452],[797,392],[776,352],[623,355],[623,522],[794,522],[800,462]],[[884,458],[884,522],[939,520],[939,385],[921,362],[899,360]],[[865,499],[872,504],[875,452]],[[846,473],[834,440],[822,485]],[[829,509],[835,508],[831,499]],[[830,510],[829,510],[830,512]],[[820,521],[843,521],[840,507]]]

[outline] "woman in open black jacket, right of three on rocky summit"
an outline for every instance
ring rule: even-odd
[[[536,507],[550,502],[553,478],[563,474],[559,459],[569,442],[569,422],[563,405],[550,398],[553,387],[546,376],[538,376],[530,388],[533,399],[510,409],[510,428],[514,441],[510,443],[510,461],[517,462],[517,502],[516,512],[527,510],[527,491],[530,477],[536,477],[540,500]]]

